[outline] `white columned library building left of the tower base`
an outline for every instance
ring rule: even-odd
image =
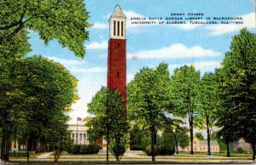
[[[74,145],[89,145],[88,129],[84,126],[84,123],[68,124],[67,130],[70,131],[71,139]]]

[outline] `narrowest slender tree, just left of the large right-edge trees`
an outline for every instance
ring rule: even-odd
[[[196,126],[207,132],[207,155],[211,155],[211,136],[212,129],[216,120],[216,111],[219,108],[220,100],[218,97],[218,82],[213,73],[205,73],[200,83],[200,108],[196,117]]]

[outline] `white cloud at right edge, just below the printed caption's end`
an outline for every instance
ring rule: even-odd
[[[211,30],[212,36],[222,35],[224,33],[229,33],[232,31],[239,31],[243,27],[255,28],[255,14],[244,14],[238,17],[242,17],[243,24],[218,24],[214,26],[207,26],[207,29]],[[234,20],[236,21],[236,20]]]

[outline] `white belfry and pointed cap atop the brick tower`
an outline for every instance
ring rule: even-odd
[[[118,4],[108,21],[110,38],[125,39],[126,16]]]

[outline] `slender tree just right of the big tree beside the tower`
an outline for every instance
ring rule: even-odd
[[[171,79],[172,105],[175,114],[189,119],[190,153],[193,151],[194,117],[198,111],[200,72],[193,65],[183,65],[174,71]]]

